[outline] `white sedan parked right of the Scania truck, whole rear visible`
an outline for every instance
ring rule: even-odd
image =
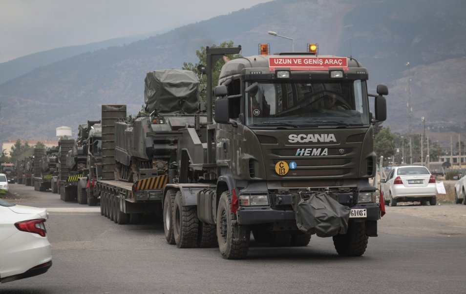
[[[424,166],[395,167],[380,182],[383,199],[390,206],[403,201],[420,201],[421,205],[426,205],[427,201],[430,205],[437,203],[435,177]]]

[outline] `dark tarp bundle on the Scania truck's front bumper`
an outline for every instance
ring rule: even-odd
[[[325,193],[313,193],[297,204],[296,224],[300,231],[319,237],[346,234],[350,210]]]

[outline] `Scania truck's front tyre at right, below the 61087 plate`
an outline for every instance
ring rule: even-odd
[[[350,222],[346,234],[333,236],[333,244],[339,255],[361,256],[366,251],[367,239],[364,222]]]

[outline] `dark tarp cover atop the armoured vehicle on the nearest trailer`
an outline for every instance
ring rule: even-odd
[[[199,112],[199,80],[189,70],[156,70],[146,75],[144,101],[146,111],[159,115],[196,114]]]

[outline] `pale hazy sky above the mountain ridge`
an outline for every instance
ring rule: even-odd
[[[0,62],[174,28],[268,1],[0,0]]]

